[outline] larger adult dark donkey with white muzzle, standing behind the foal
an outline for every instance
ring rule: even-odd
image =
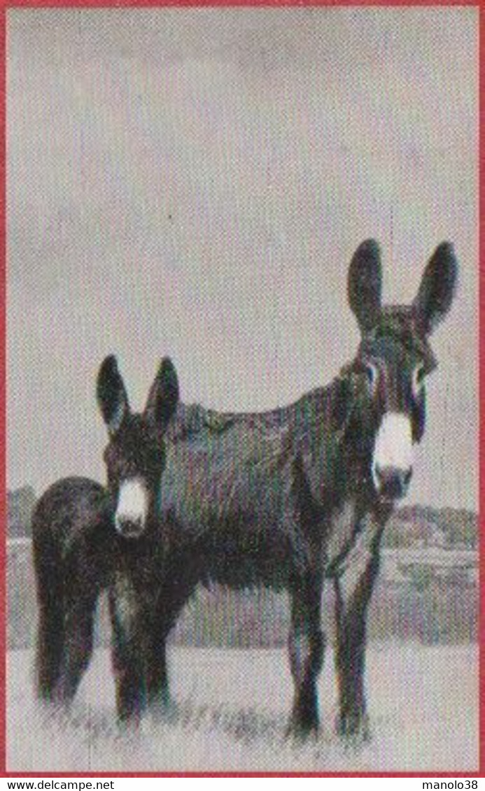
[[[367,240],[348,276],[361,343],[327,388],[260,414],[179,405],[161,483],[165,576],[157,596],[150,600],[147,591],[140,604],[158,624],[152,648],[163,697],[165,639],[198,581],[286,588],[295,687],[290,725],[300,735],[315,730],[324,657],[320,601],[329,577],[339,732],[366,734],[366,613],[381,536],[411,480],[413,445],[425,425],[425,379],[436,367],[428,336],[449,310],[456,278],[453,248],[440,244],[415,301],[382,307],[380,252]],[[131,625],[125,628],[125,641],[135,639]]]

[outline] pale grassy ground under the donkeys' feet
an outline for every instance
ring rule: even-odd
[[[8,654],[9,770],[473,770],[478,763],[478,650],[373,645],[373,739],[343,747],[333,732],[335,678],[320,681],[318,740],[285,740],[291,683],[282,650],[172,649],[170,723],[120,732],[109,654],[98,651],[70,718],[46,721],[32,697],[32,652]]]

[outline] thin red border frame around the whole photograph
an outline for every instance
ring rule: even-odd
[[[6,13],[10,8],[220,6],[471,6],[479,9],[479,448],[485,445],[485,0],[0,0],[0,778],[483,778],[485,777],[485,456],[479,458],[479,768],[463,772],[8,772],[6,770]]]

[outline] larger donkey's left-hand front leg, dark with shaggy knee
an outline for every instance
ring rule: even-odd
[[[297,577],[290,589],[289,648],[295,687],[290,732],[299,737],[316,732],[319,725],[316,681],[324,659],[321,593],[322,577],[317,573]]]

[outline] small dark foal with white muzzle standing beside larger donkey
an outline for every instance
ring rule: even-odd
[[[116,358],[105,358],[97,377],[97,399],[108,427],[108,486],[86,478],[61,479],[36,505],[32,543],[39,603],[36,684],[41,699],[67,703],[74,698],[93,650],[100,591],[132,581],[135,586],[148,584],[154,573],[153,558],[160,546],[156,528],[165,466],[163,434],[178,397],[176,371],[165,358],[145,411],[133,414]],[[147,666],[144,644],[120,642],[113,601],[111,609],[115,668],[123,653],[123,661],[135,664],[141,683],[149,686],[153,668]],[[150,634],[146,624],[137,627],[143,636]],[[121,717],[131,713],[131,688],[123,677],[117,679],[117,702]]]

